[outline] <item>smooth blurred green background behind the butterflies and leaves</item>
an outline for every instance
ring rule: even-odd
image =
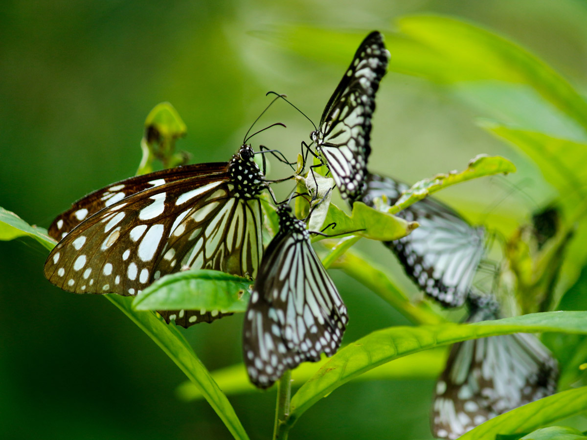
[[[268,90],[288,94],[317,123],[363,36],[393,31],[398,16],[423,12],[493,28],[585,87],[587,2],[579,0],[4,2],[0,206],[46,227],[75,199],[133,175],[144,118],[160,101],[170,101],[187,124],[188,136],[177,147],[190,151],[194,162],[228,160],[268,103]],[[275,37],[300,24],[356,38],[344,57],[316,56],[328,50],[327,39],[313,41],[302,55]],[[524,158],[475,126],[482,107],[454,88],[390,72],[377,97],[371,163],[411,182],[463,169],[478,153],[505,155],[520,170],[509,181],[523,182],[528,197],[487,179],[440,198],[473,219],[489,211],[507,232],[552,194]],[[279,148],[295,159],[312,127],[284,103],[258,128],[275,121],[288,128],[253,138],[254,146]],[[274,165],[276,173],[286,172]],[[42,275],[46,252],[22,242],[0,243],[2,435],[230,438],[205,401],[176,398],[185,377],[141,330],[99,296],[49,285]],[[382,246],[361,245],[399,273]],[[332,276],[351,316],[346,341],[406,324],[355,281]],[[403,277],[399,282],[419,295]],[[240,331],[241,316],[233,316],[183,333],[214,370],[241,360]],[[291,438],[430,438],[433,383],[349,383],[306,413]],[[231,397],[251,438],[269,437],[274,400],[271,391]]]

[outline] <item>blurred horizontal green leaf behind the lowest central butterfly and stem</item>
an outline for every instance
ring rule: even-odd
[[[303,385],[326,361],[328,358],[323,357],[317,363],[305,362],[299,365],[292,371],[292,386]],[[436,379],[444,369],[445,363],[446,350],[427,350],[373,368],[368,373],[357,377],[356,380]],[[259,389],[249,381],[244,364],[230,365],[230,367],[212,371],[212,377],[227,395],[259,392]],[[199,400],[203,397],[200,390],[189,381],[178,386],[177,394],[186,401]]]

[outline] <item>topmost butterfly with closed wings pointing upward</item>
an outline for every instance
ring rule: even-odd
[[[328,100],[319,128],[310,134],[343,198],[353,199],[363,190],[375,93],[389,58],[383,35],[367,35]]]

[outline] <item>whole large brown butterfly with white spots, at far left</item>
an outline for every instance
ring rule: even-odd
[[[228,163],[131,177],[75,202],[49,234],[60,240],[45,277],[74,293],[137,295],[168,273],[215,269],[255,277],[263,255],[259,194],[268,189],[250,145]],[[184,327],[218,310],[166,310]]]

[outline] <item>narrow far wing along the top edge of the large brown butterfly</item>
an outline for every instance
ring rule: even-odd
[[[185,165],[115,182],[73,203],[70,209],[53,220],[49,226],[49,235],[59,241],[86,218],[123,198],[129,197],[129,195],[176,180],[205,174],[222,174],[226,171],[227,165],[225,162]]]

